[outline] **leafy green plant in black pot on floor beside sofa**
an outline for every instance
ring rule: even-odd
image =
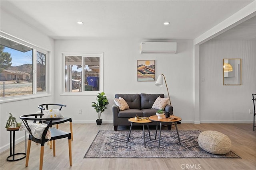
[[[108,107],[106,107],[106,105],[108,105],[108,99],[106,96],[104,96],[105,93],[101,92],[98,93],[97,96],[97,103],[96,102],[92,102],[92,107],[94,107],[94,109],[96,110],[96,112],[98,113],[98,119],[96,120],[97,125],[101,125],[102,123],[102,119],[100,119],[101,113],[103,111],[105,111],[105,109],[107,109]]]

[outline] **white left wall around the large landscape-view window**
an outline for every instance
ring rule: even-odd
[[[1,9],[1,27],[0,30],[8,33],[12,36],[15,36],[19,39],[22,39],[24,41],[28,41],[29,43],[32,43],[33,45],[36,45],[40,48],[46,49],[51,52],[52,56],[49,56],[49,67],[50,70],[52,70],[52,64],[53,64],[53,55],[54,55],[54,41],[53,39],[50,39],[48,36],[38,32],[33,27],[30,27],[29,25],[26,25],[21,20],[14,18],[7,12]],[[53,80],[53,76],[50,76],[50,81]],[[53,84],[50,84],[51,86]],[[50,86],[50,88],[52,88]],[[2,98],[1,98],[2,100]],[[9,149],[10,147],[10,137],[9,131],[6,131],[5,124],[9,117],[9,112],[12,113],[18,121],[20,121],[19,117],[20,115],[29,114],[29,113],[35,113],[39,109],[37,106],[42,103],[48,103],[53,102],[53,97],[41,97],[41,98],[34,98],[34,99],[26,99],[26,100],[20,100],[16,102],[7,102],[0,104],[0,149],[1,152],[3,150]],[[17,131],[15,133],[15,139],[16,143],[18,141],[24,140],[24,132]]]

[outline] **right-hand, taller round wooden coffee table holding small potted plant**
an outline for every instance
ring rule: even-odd
[[[158,122],[160,122],[160,127],[159,127],[159,141],[158,141],[158,149],[160,147],[160,138],[161,138],[161,127],[162,127],[162,122],[170,122],[170,123],[174,123],[175,127],[176,127],[176,131],[178,134],[178,139],[179,139],[179,143],[180,143],[180,136],[179,136],[179,132],[178,132],[178,127],[177,127],[177,122],[181,121],[180,117],[177,116],[170,116],[169,118],[163,117],[162,119],[158,119],[157,115],[153,115],[149,117],[150,120],[152,121],[156,121],[156,133],[157,133],[157,129],[158,129]],[[155,139],[156,139],[156,135],[155,135]],[[181,145],[181,144],[180,144]]]

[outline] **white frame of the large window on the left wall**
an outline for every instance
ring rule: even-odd
[[[5,39],[10,39],[11,41],[14,41],[16,43],[19,43],[21,45],[25,45],[27,47],[30,47],[33,49],[33,61],[32,61],[32,64],[33,64],[33,94],[26,94],[26,95],[20,95],[20,96],[6,96],[6,97],[1,97],[0,98],[0,104],[1,103],[7,103],[7,102],[15,102],[15,101],[20,101],[20,100],[28,100],[28,99],[33,99],[33,98],[41,98],[41,97],[46,97],[46,96],[52,96],[50,94],[50,86],[49,86],[49,81],[50,80],[50,75],[48,74],[49,72],[49,63],[48,61],[50,61],[50,50],[47,50],[45,48],[42,48],[42,47],[38,47],[37,45],[34,45],[32,43],[29,43],[27,41],[24,41],[22,39],[19,39],[17,37],[14,37],[8,33],[5,33],[3,31],[0,31],[0,37],[3,37]],[[36,51],[38,52],[42,52],[44,54],[46,54],[46,60],[45,60],[45,64],[46,64],[46,78],[45,78],[45,81],[46,81],[46,91],[45,92],[36,92]]]

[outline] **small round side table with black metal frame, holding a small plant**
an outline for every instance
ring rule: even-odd
[[[15,131],[19,131],[20,127],[6,128],[7,131],[10,131],[10,156],[6,158],[7,161],[17,161],[26,157],[27,154],[27,133],[25,132],[25,153],[15,153]],[[12,132],[13,132],[13,141],[12,141]],[[15,155],[23,154],[22,158],[15,159]],[[11,159],[12,158],[12,159]]]

